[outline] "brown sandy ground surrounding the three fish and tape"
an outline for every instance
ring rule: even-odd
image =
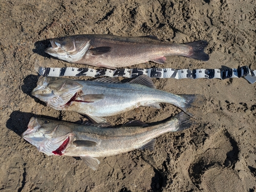
[[[164,67],[256,69],[254,1],[125,2],[0,1],[0,190],[255,191],[256,84],[244,78],[153,79],[161,90],[205,95],[206,103],[194,111],[201,126],[162,135],[152,152],[99,158],[96,171],[80,158],[46,156],[20,138],[32,116],[81,123],[81,115],[53,110],[31,96],[38,79],[36,60],[52,67],[74,66],[44,53],[49,38],[114,34],[156,35],[180,43],[205,39],[209,61],[167,57]],[[133,67],[163,66],[150,62]],[[161,106],[107,119],[115,125],[129,118],[151,123],[180,111],[170,104]]]

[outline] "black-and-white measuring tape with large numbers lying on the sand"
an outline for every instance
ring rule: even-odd
[[[151,78],[175,78],[175,79],[198,79],[198,78],[240,78],[245,76],[245,79],[250,83],[256,81],[256,70],[252,71],[248,66],[243,66],[238,69],[172,69],[172,68],[150,68],[150,69],[91,69],[91,68],[44,68],[38,67],[37,72],[42,76],[109,76],[109,77],[128,77],[133,78],[139,75],[147,75]]]

